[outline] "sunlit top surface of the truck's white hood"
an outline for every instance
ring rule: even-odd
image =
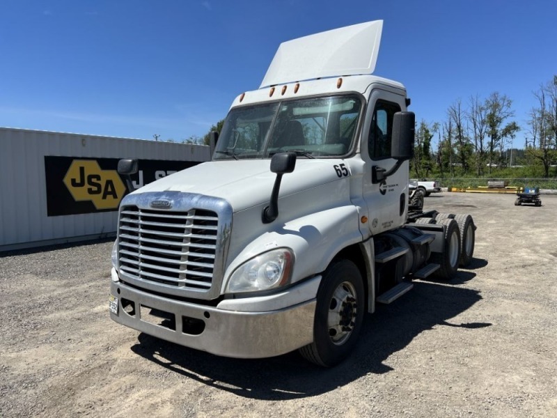
[[[295,170],[283,175],[280,196],[340,180],[340,164],[345,164],[350,173],[346,160],[297,160]],[[276,178],[270,166],[271,160],[205,162],[141,187],[134,194],[185,192],[214,196],[226,199],[237,212],[269,201]]]

